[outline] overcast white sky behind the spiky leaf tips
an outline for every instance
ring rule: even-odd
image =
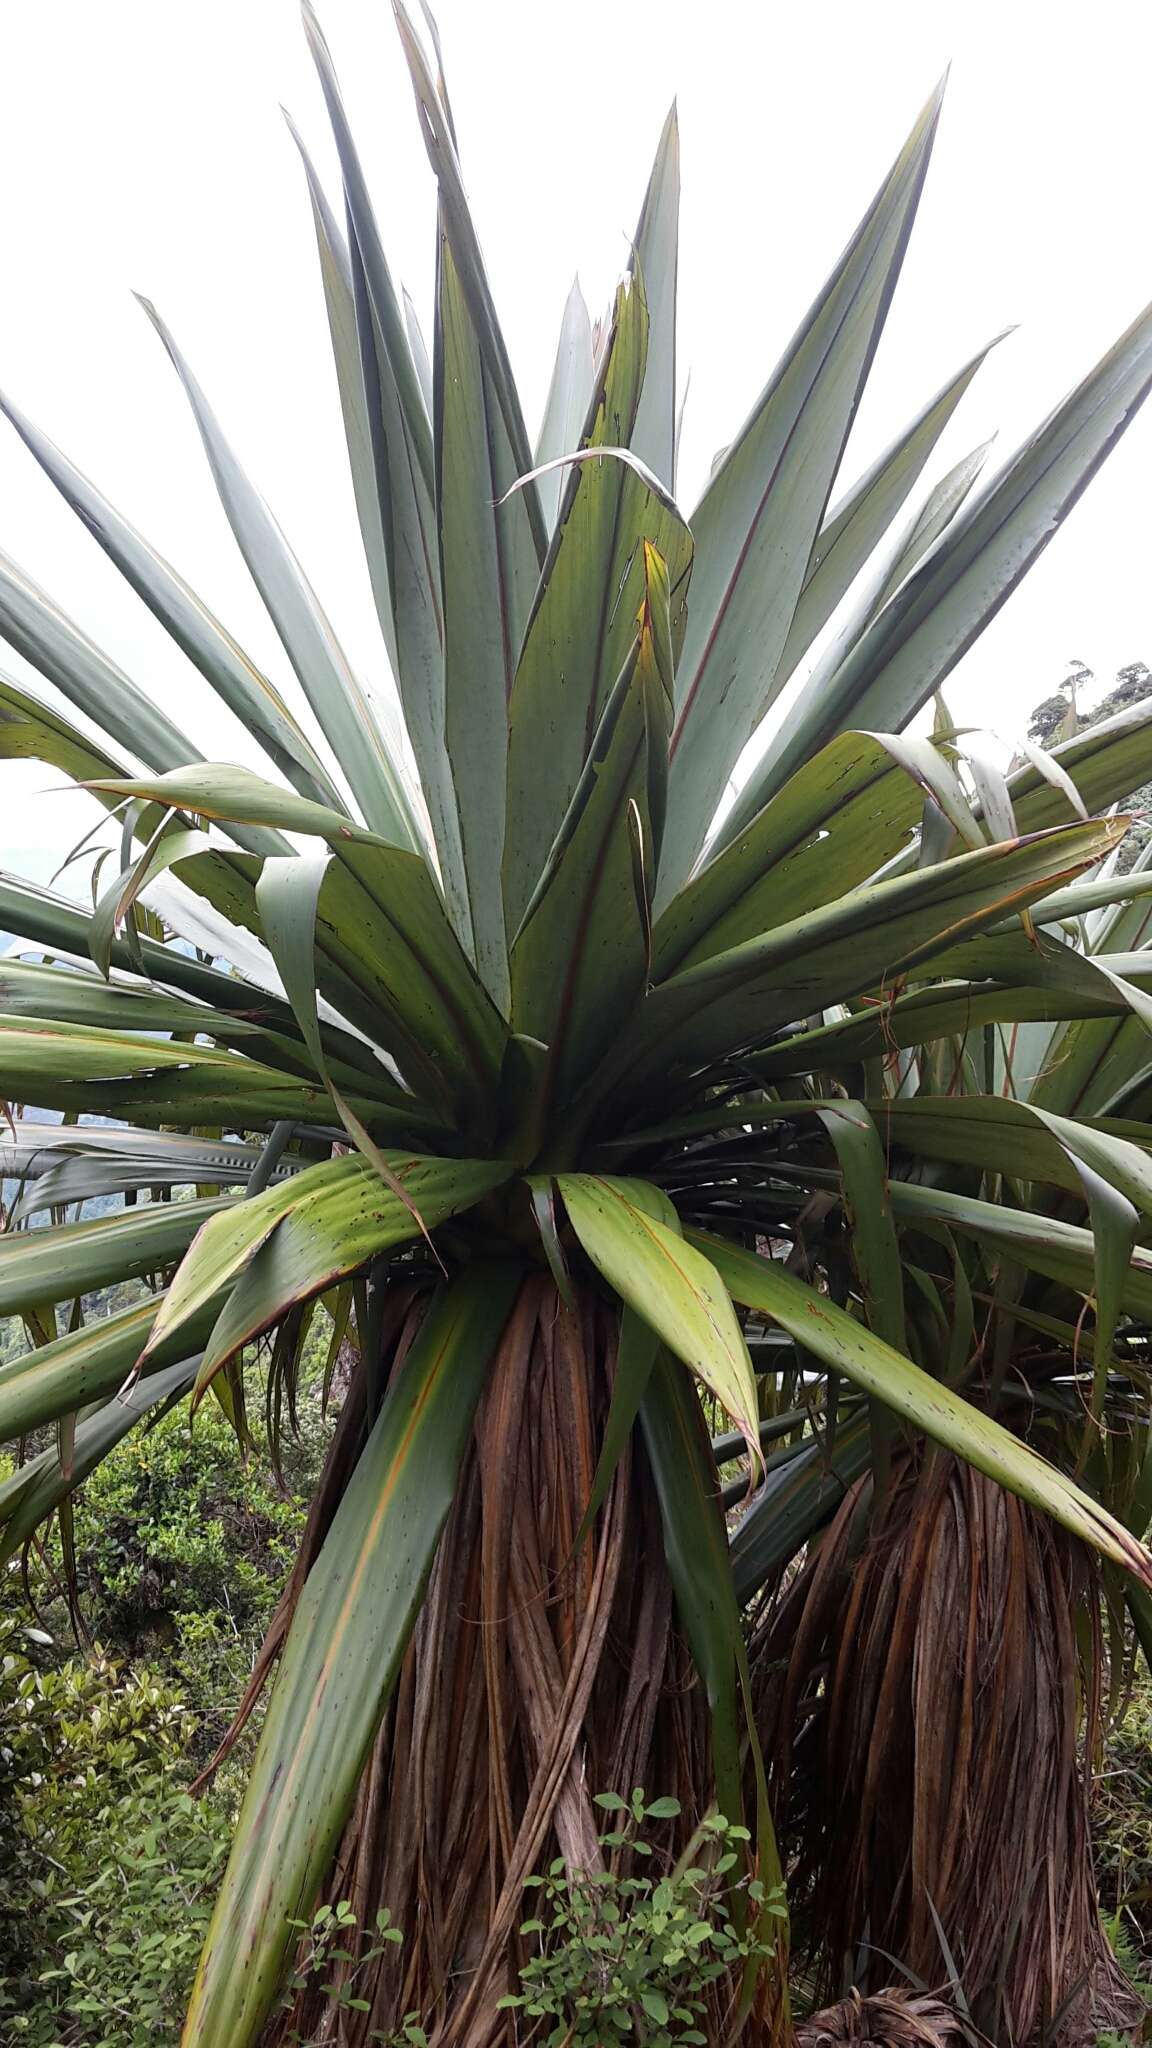
[[[428,319],[433,184],[392,8],[318,8],[394,268]],[[689,508],[949,59],[937,154],[849,469],[980,342],[1019,322],[939,467],[994,428],[998,453],[1011,453],[1152,295],[1142,0],[1064,10],[439,0],[439,18],[531,430],[572,272],[594,309],[607,301],[678,94]],[[332,174],[293,0],[0,0],[0,383],[293,694],[131,287],[154,297],[353,662],[385,688],[310,209],[279,115],[285,102]],[[965,721],[1011,739],[1072,657],[1103,680],[1123,662],[1152,662],[1150,473],[1152,406],[953,676],[949,702]],[[6,426],[0,547],[209,754],[252,758]],[[4,653],[0,668],[18,674]],[[47,879],[53,850],[82,829],[84,801],[47,795],[55,780],[0,762],[0,866]]]

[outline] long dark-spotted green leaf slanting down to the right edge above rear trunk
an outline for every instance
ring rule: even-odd
[[[998,1481],[1033,1507],[1041,1507],[1066,1530],[1103,1556],[1152,1587],[1152,1556],[1099,1501],[1093,1501],[1064,1473],[1011,1436],[992,1415],[961,1401],[941,1380],[931,1378],[892,1346],[863,1329],[826,1296],[816,1294],[777,1260],[760,1260],[701,1231],[691,1241],[715,1264],[736,1300],[781,1323],[797,1343],[842,1372],[896,1415],[922,1430],[945,1450],[965,1458],[976,1470]]]

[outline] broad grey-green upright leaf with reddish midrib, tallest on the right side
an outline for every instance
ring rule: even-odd
[[[775,698],[812,545],[900,274],[939,104],[941,92],[693,514],[699,567],[678,670],[676,846],[662,903],[691,872],[724,784]]]

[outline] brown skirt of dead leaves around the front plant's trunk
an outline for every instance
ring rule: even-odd
[[[392,1313],[389,1370],[418,1313],[412,1300]],[[365,2048],[410,2011],[437,2048],[502,2042],[523,1880],[553,1855],[599,1868],[594,1794],[674,1794],[670,1851],[707,1810],[707,1706],[676,1634],[640,1444],[576,1540],[613,1372],[607,1305],[568,1309],[551,1280],[525,1282],[324,1890],[365,1929],[387,1907],[404,1944],[357,1978],[367,2013],[336,2019],[310,1991],[271,2023],[271,2048],[297,2036]],[[346,1477],[346,1436],[332,1456]]]

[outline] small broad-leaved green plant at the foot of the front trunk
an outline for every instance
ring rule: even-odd
[[[672,1821],[681,1804],[674,1798],[646,1804],[642,1788],[631,1800],[601,1792],[596,1804],[615,1823],[599,1837],[605,1868],[572,1876],[558,1858],[545,1876],[527,1880],[539,1903],[521,1935],[535,1937],[537,1954],[521,1970],[521,1989],[500,2003],[539,2021],[533,2040],[547,2048],[705,2044],[707,1987],[719,1976],[732,1980],[748,1958],[769,1954],[765,1927],[785,1913],[783,1888],[767,1890],[756,1878],[734,1884],[748,1829],[717,1812],[707,1815],[681,1862],[662,1876],[623,1876],[625,1853],[654,1855],[640,1829]],[[740,1913],[736,1896],[744,1901]]]

